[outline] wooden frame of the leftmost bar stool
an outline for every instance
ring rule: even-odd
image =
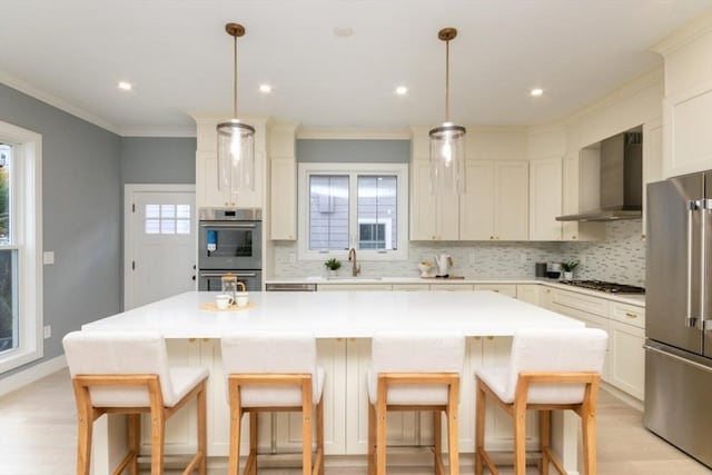
[[[77,444],[77,475],[89,475],[91,468],[91,435],[93,422],[103,414],[126,414],[128,417],[129,452],[117,465],[112,474],[120,474],[129,468],[131,475],[138,475],[138,456],[141,439],[141,413],[149,413],[151,419],[151,475],[164,473],[164,452],[166,420],[189,403],[197,402],[198,447],[185,471],[187,475],[198,469],[200,475],[207,474],[207,417],[206,417],[206,379],[197,384],[175,406],[165,407],[158,375],[77,375],[72,378],[77,417],[79,420]],[[147,407],[95,407],[91,404],[91,387],[145,387],[148,392]]]

